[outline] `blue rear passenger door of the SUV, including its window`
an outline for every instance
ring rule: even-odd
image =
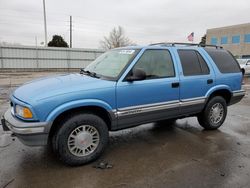
[[[206,57],[196,49],[178,49],[180,72],[181,114],[191,114],[202,110],[205,95],[215,85],[215,75]]]

